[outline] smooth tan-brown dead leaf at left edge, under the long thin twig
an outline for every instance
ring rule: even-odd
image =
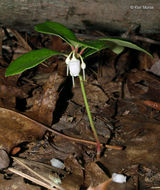
[[[0,147],[7,152],[22,142],[41,138],[44,132],[26,116],[0,107]]]

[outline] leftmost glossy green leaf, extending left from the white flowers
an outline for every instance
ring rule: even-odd
[[[52,51],[49,49],[33,50],[23,54],[13,61],[5,72],[5,76],[16,75],[23,71],[33,68],[38,64],[42,63],[46,59],[53,55],[64,55],[63,53]]]

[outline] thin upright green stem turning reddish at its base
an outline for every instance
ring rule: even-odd
[[[97,135],[97,131],[96,131],[95,127],[94,127],[94,123],[93,123],[92,115],[91,115],[91,112],[90,112],[90,109],[89,109],[87,96],[86,96],[86,92],[85,92],[85,88],[84,88],[84,84],[83,84],[83,79],[82,79],[81,75],[79,75],[79,80],[80,80],[81,90],[82,90],[82,94],[83,94],[84,104],[85,104],[86,111],[87,111],[87,114],[88,114],[88,119],[89,119],[89,122],[90,122],[90,125],[91,125],[91,129],[93,131],[94,137],[95,137],[96,142],[97,142],[97,158],[99,158],[99,156],[100,156],[100,142],[99,142],[99,138],[98,138],[98,135]]]

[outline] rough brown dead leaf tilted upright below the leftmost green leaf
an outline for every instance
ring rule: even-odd
[[[33,91],[33,97],[27,99],[27,106],[31,107],[27,115],[45,125],[51,125],[53,111],[59,97],[59,87],[65,78],[56,72],[51,73],[41,89]]]

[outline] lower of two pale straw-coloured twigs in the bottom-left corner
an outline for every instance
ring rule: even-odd
[[[21,177],[23,177],[23,178],[26,178],[26,179],[30,180],[30,181],[38,184],[38,185],[41,185],[41,186],[43,186],[43,187],[45,187],[47,189],[57,190],[57,188],[51,187],[50,185],[47,185],[46,183],[44,183],[44,182],[42,182],[42,181],[40,181],[40,180],[38,180],[38,179],[36,179],[34,177],[31,177],[31,176],[29,176],[29,175],[27,175],[27,174],[25,174],[25,173],[23,173],[21,171],[18,171],[18,170],[14,169],[14,168],[8,168],[8,170],[15,173],[15,174],[17,174],[17,175],[19,175],[19,176],[21,176]]]

